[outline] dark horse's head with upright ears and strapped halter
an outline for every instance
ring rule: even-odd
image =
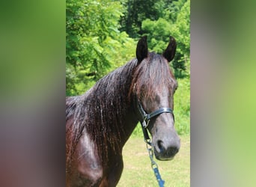
[[[170,37],[162,55],[148,52],[147,37],[138,41],[137,67],[133,78],[135,113],[152,135],[152,146],[159,160],[172,159],[180,149],[174,129],[174,92],[177,81],[168,63],[174,58],[176,41]]]

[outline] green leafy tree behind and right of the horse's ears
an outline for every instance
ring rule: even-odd
[[[190,0],[173,1],[165,10],[163,17],[142,22],[143,34],[152,38],[148,46],[158,53],[163,52],[170,35],[173,36],[177,40],[177,52],[171,64],[174,74],[177,78],[190,76]]]

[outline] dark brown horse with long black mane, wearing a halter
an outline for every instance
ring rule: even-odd
[[[156,159],[174,158],[180,149],[172,112],[177,81],[168,63],[176,47],[170,37],[159,55],[149,52],[147,37],[141,37],[136,58],[84,94],[67,96],[67,187],[117,186],[124,168],[122,149],[138,121],[152,136]]]

